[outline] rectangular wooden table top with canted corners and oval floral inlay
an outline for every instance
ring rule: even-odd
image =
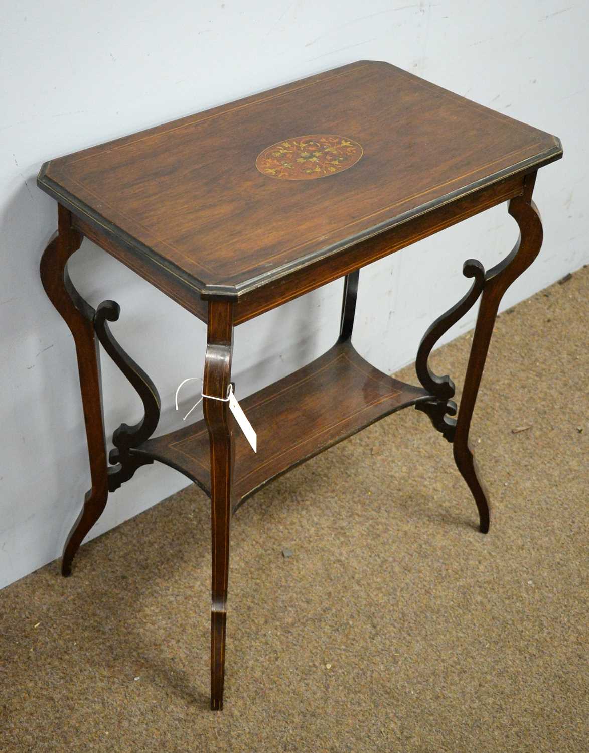
[[[555,136],[363,60],[50,160],[38,185],[235,297],[561,155]]]

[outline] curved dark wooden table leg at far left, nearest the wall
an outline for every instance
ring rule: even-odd
[[[65,541],[62,575],[71,575],[71,561],[83,538],[105,509],[108,475],[102,395],[100,386],[99,343],[94,331],[95,311],[77,293],[68,276],[68,259],[80,248],[82,236],[71,227],[71,214],[58,207],[58,234],[41,258],[41,282],[53,306],[61,314],[74,337],[88,455],[91,487],[83,507]]]

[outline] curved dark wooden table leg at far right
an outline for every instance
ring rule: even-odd
[[[501,298],[509,285],[532,264],[542,246],[542,221],[532,201],[535,178],[536,173],[528,175],[524,183],[523,195],[509,202],[509,214],[518,223],[520,230],[518,242],[512,252],[485,275],[484,291],[481,306],[478,309],[475,334],[472,337],[469,364],[466,367],[460,412],[454,435],[454,460],[475,498],[483,533],[489,530],[490,508],[488,495],[478,475],[475,458],[469,445],[470,422]]]

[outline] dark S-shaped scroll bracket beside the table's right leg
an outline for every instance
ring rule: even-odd
[[[448,418],[448,416],[456,415],[456,403],[450,399],[454,397],[456,386],[448,374],[444,377],[439,377],[433,373],[427,361],[440,337],[472,308],[484,288],[485,273],[480,261],[467,259],[464,262],[462,271],[465,277],[474,278],[470,290],[458,303],[455,303],[451,309],[448,309],[448,311],[433,322],[433,325],[430,326],[421,339],[415,360],[417,379],[425,389],[431,392],[432,395],[435,395],[435,398],[432,400],[417,403],[415,407],[417,410],[423,410],[424,413],[430,416],[434,427],[442,432],[442,435],[448,442],[454,440],[454,431],[456,429],[456,421]]]

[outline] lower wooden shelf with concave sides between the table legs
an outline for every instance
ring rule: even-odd
[[[251,450],[235,424],[234,509],[295,465],[378,419],[431,397],[427,390],[375,369],[349,340],[336,343],[307,366],[240,401],[257,431],[258,452]],[[147,440],[132,454],[176,468],[210,495],[204,420]]]

